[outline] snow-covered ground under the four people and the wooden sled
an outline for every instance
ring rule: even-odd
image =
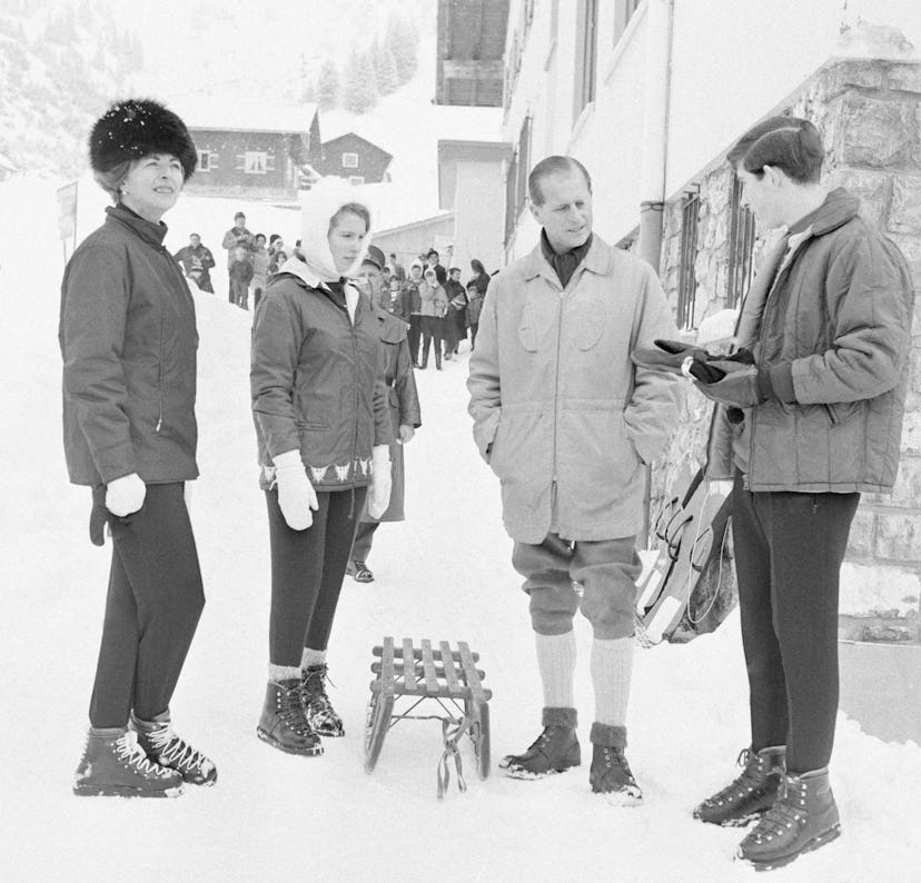
[[[180,211],[201,227],[229,226],[217,202],[187,200],[176,218]],[[438,802],[439,727],[409,722],[389,734],[374,774],[364,773],[372,646],[384,635],[465,639],[479,651],[494,692],[494,760],[523,750],[539,730],[526,602],[509,564],[498,488],[471,440],[466,356],[442,373],[419,373],[424,425],[406,450],[408,520],[378,532],[377,581],[344,587],[330,668],[346,737],[326,741],[320,758],[284,755],[256,738],[268,537],[248,403],[250,316],[222,296],[197,298],[202,476],[194,523],[208,604],[172,704],[178,728],[214,757],[220,777],[176,801],[71,796],[111,549],[89,543],[88,492],[70,486],[65,472],[55,217],[47,186],[0,186],[0,879],[447,883],[752,873],[732,861],[737,831],[690,815],[733,774],[746,742],[736,617],[687,646],[637,649],[630,758],[646,793],[641,808],[616,810],[588,792],[584,622],[583,767],[543,782],[497,773],[484,782],[466,752],[467,793],[452,783]],[[832,772],[843,836],[775,879],[918,880],[918,745],[880,742],[842,716]]]

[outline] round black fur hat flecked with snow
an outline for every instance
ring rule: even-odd
[[[149,153],[172,153],[182,163],[185,180],[198,165],[198,151],[186,123],[158,101],[146,98],[116,101],[92,127],[89,149],[90,166],[100,172]]]

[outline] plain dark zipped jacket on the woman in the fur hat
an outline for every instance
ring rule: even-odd
[[[198,476],[195,304],[162,240],[123,206],[65,269],[58,339],[70,480],[149,484]]]

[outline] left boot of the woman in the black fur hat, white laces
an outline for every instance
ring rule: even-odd
[[[133,731],[90,731],[73,776],[73,793],[80,797],[178,797],[182,776],[149,760]]]

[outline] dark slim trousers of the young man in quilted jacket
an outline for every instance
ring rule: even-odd
[[[786,745],[792,773],[828,766],[838,714],[838,586],[860,494],[751,493],[732,533],[752,747]]]

